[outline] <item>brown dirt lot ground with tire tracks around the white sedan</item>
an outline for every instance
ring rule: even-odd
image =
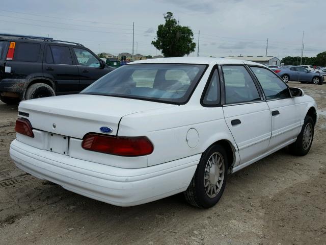
[[[326,244],[326,84],[289,84],[318,104],[310,153],[238,171],[207,210],[180,194],[115,207],[26,175],[9,157],[17,107],[0,102],[0,244]]]

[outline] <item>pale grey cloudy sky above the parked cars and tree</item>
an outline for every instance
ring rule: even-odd
[[[159,55],[151,45],[164,13],[194,32],[200,57],[282,59],[326,51],[324,0],[15,0],[0,7],[0,33],[49,36],[82,43],[94,53]]]

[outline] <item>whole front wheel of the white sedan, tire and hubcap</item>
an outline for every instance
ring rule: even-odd
[[[304,125],[302,126],[300,134],[296,141],[289,145],[290,152],[296,156],[306,155],[312,144],[314,137],[314,121],[311,116],[305,117]]]

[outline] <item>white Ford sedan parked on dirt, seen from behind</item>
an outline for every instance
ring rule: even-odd
[[[316,103],[263,65],[132,62],[79,94],[20,103],[10,156],[22,170],[118,206],[183,192],[216,204],[227,176],[289,145],[310,150]]]

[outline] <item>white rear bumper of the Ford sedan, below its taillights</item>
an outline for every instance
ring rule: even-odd
[[[10,156],[17,167],[39,179],[105,203],[134,206],[186,190],[201,154],[129,169],[40,150],[15,139]]]

